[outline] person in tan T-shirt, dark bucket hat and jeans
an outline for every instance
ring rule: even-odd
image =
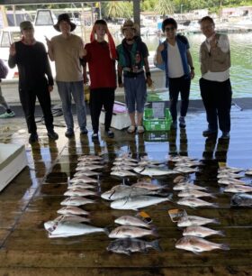
[[[76,24],[70,21],[68,14],[59,14],[54,28],[61,34],[47,39],[49,58],[55,61],[58,94],[62,101],[62,109],[67,124],[65,135],[74,135],[74,120],[71,109],[71,97],[76,103],[77,120],[80,133],[88,133],[86,129],[84,83],[80,59],[84,55],[84,42],[71,33]]]

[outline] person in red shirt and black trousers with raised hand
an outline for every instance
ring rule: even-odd
[[[107,35],[108,41],[105,41]],[[110,130],[112,122],[112,108],[114,90],[116,88],[115,60],[117,53],[109,32],[107,23],[100,19],[94,23],[90,35],[90,43],[85,44],[85,62],[88,64],[90,76],[90,114],[93,126],[92,140],[99,140],[99,117],[102,108],[105,110],[105,134],[113,138]],[[86,66],[84,68],[84,81],[88,83]]]

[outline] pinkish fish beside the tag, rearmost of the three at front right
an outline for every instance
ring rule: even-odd
[[[208,224],[220,225],[220,222],[216,218],[206,218],[202,216],[182,216],[177,222],[178,227],[200,226]]]

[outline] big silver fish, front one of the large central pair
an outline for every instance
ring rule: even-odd
[[[111,203],[113,209],[125,209],[125,210],[138,210],[142,207],[148,207],[151,205],[157,205],[158,203],[171,200],[171,196],[167,198],[158,198],[150,196],[138,196],[132,198],[121,198],[114,200]]]

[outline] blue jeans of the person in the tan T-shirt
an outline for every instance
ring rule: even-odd
[[[83,81],[57,81],[58,94],[62,101],[62,110],[67,124],[67,130],[74,130],[74,119],[71,108],[71,96],[76,103],[76,114],[80,131],[85,130],[86,113]]]

